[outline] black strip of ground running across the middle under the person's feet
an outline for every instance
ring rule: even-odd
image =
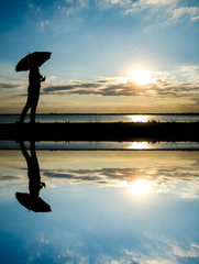
[[[198,141],[196,123],[12,123],[0,124],[9,141]]]

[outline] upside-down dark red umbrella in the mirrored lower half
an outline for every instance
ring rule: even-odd
[[[15,198],[26,209],[35,212],[49,212],[52,211],[51,206],[47,205],[41,197],[33,199],[29,194],[16,193]]]

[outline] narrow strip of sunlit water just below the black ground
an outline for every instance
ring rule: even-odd
[[[25,141],[30,150],[30,142]],[[199,151],[199,142],[55,142],[40,141],[35,143],[38,151]],[[14,141],[0,141],[0,151],[16,151],[20,144]]]

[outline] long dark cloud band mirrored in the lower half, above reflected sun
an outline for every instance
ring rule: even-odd
[[[120,185],[123,182],[131,185],[136,179],[155,180],[158,185],[173,182],[190,182],[198,178],[199,170],[190,167],[146,167],[146,168],[96,168],[44,170],[49,178],[66,179],[75,183],[95,183],[98,185]]]

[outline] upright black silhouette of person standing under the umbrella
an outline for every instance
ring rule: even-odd
[[[40,98],[41,81],[45,81],[45,76],[40,74],[38,66],[33,63],[29,74],[27,101],[20,117],[20,122],[23,123],[25,116],[31,108],[31,123],[35,123],[36,107]]]

